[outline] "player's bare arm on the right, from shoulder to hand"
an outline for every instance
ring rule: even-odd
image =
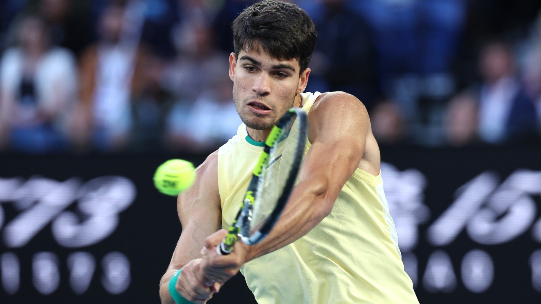
[[[312,146],[302,163],[299,184],[294,187],[275,227],[258,245],[237,243],[230,256],[216,256],[209,251],[203,260],[206,278],[225,281],[224,278],[234,275],[243,262],[291,244],[331,213],[342,186],[361,162],[370,119],[357,98],[333,92],[316,101],[308,121],[308,140]],[[225,233],[220,231],[207,238],[206,246],[216,246]]]

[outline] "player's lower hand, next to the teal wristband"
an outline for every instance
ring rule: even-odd
[[[220,290],[220,285],[215,282],[212,286],[204,285],[202,282],[207,280],[203,278],[201,271],[202,259],[195,259],[182,267],[182,272],[176,280],[176,291],[184,297],[184,299],[198,304],[204,304],[214,292]]]

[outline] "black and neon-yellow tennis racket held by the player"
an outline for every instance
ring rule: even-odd
[[[239,213],[226,238],[216,247],[219,254],[229,254],[239,238],[245,244],[255,245],[271,232],[293,190],[304,157],[307,130],[306,112],[296,107],[289,109],[273,127]]]

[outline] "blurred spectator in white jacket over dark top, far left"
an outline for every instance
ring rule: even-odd
[[[16,26],[17,46],[0,63],[0,141],[15,151],[64,151],[76,100],[75,58],[51,47],[42,18],[25,16]]]

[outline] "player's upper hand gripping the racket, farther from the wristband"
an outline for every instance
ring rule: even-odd
[[[203,255],[201,269],[203,276],[208,280],[203,283],[207,286],[212,286],[213,282],[222,285],[237,274],[240,267],[247,261],[249,246],[241,241],[236,242],[233,251],[228,255],[220,255],[216,252],[216,247],[220,245],[226,235],[226,229],[220,229],[209,235],[205,239],[205,247],[201,249]]]

